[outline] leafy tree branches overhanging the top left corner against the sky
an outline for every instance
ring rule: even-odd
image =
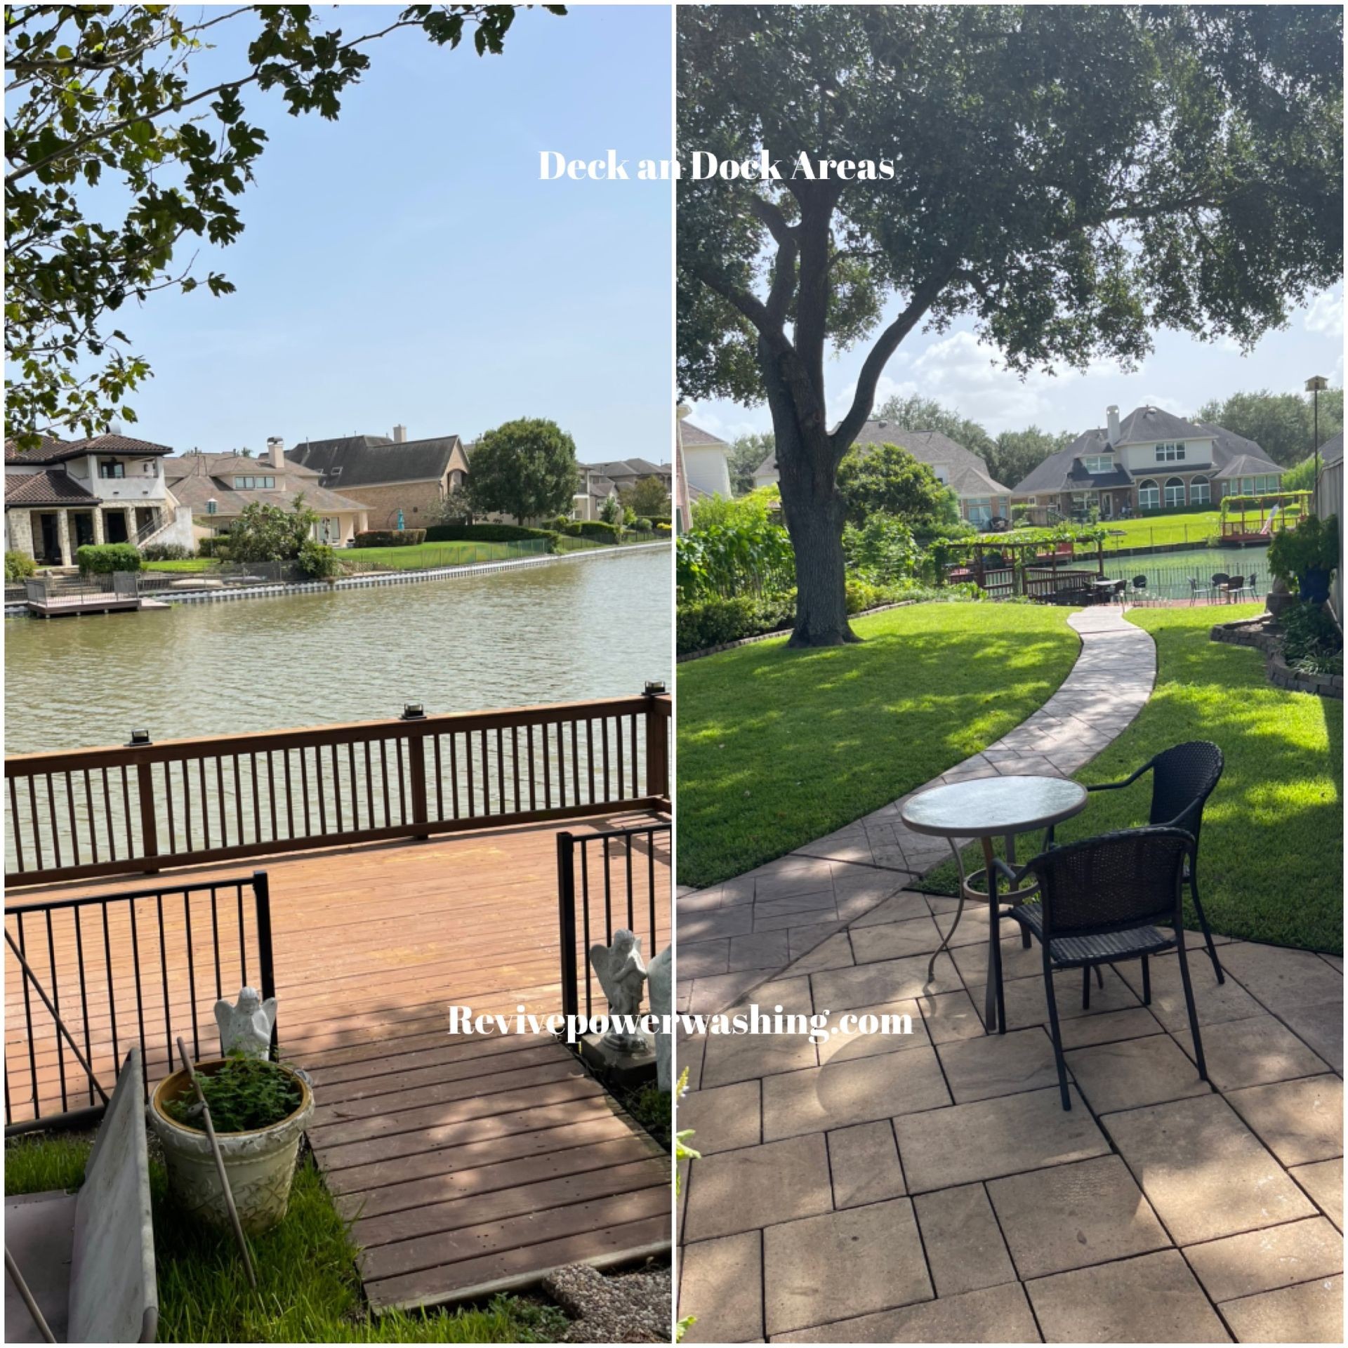
[[[377,15],[371,30],[348,35],[301,4],[7,5],[5,435],[35,448],[43,434],[136,419],[125,396],[151,369],[113,315],[197,287],[191,260],[177,256],[185,237],[225,245],[244,228],[237,198],[267,140],[247,120],[245,92],[275,89],[293,116],[336,120],[377,39],[419,28],[457,47],[472,34],[479,55],[499,53],[516,8],[365,11]],[[239,70],[193,80],[194,58],[240,28],[252,40]],[[115,185],[101,198],[116,202],[111,217],[93,214],[100,183]],[[204,283],[233,290],[214,271]]]

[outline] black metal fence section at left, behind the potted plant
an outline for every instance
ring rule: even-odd
[[[147,1089],[179,1034],[214,1057],[214,1004],[245,985],[276,992],[266,871],[7,906],[5,1135],[92,1122],[132,1043]]]

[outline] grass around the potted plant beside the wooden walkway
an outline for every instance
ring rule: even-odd
[[[5,1193],[73,1189],[88,1139],[20,1139],[5,1147]],[[151,1161],[160,1343],[554,1343],[566,1317],[553,1306],[496,1297],[484,1308],[390,1313],[373,1320],[360,1297],[356,1247],[311,1161],[301,1163],[286,1220],[253,1237],[257,1290],[231,1235],[186,1217]]]

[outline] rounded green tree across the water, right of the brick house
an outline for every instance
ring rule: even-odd
[[[468,474],[476,515],[512,515],[523,524],[574,504],[576,441],[557,422],[522,417],[480,435]]]

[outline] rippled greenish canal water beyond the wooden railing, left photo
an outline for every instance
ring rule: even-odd
[[[5,752],[624,697],[671,685],[669,549],[167,612],[11,619]]]

